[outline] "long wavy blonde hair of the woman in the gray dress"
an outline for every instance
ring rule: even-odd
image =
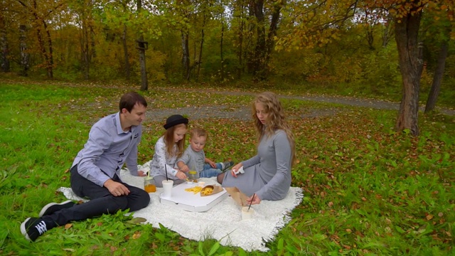
[[[262,124],[257,118],[256,104],[260,104],[264,107],[264,111],[268,114],[267,125]],[[287,134],[287,139],[291,146],[291,164],[294,164],[295,159],[295,140],[294,134],[287,124],[284,117],[284,110],[282,103],[279,102],[277,95],[273,92],[262,92],[257,95],[255,100],[252,102],[252,118],[255,122],[257,132],[257,143],[260,142],[262,136],[270,137],[275,134],[275,131],[282,129]]]

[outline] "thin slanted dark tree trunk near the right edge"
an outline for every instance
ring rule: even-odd
[[[425,106],[425,113],[434,110],[436,105],[439,90],[441,89],[442,76],[444,75],[444,68],[446,66],[447,53],[449,52],[449,44],[444,41],[441,43],[441,49],[439,50],[438,61],[436,70],[434,71],[432,89],[429,90],[427,105]]]

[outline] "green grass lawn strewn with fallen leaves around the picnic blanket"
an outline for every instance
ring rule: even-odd
[[[283,103],[296,137],[292,186],[303,188],[305,197],[267,243],[269,252],[187,240],[164,227],[132,223],[123,212],[55,228],[28,242],[21,222],[46,203],[65,200],[55,190],[70,185],[68,169],[91,125],[116,112],[119,96],[134,89],[0,82],[0,255],[451,255],[454,117],[420,114],[422,134],[412,137],[393,131],[395,111],[301,100]],[[188,105],[237,107],[253,99],[224,93],[229,88],[210,95],[165,89],[143,93],[149,116]],[[153,156],[162,122],[144,122],[139,164]],[[191,125],[210,132],[211,159],[238,162],[255,154],[250,122],[207,118]]]

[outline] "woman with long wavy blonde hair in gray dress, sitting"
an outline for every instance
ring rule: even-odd
[[[286,197],[291,186],[291,166],[295,156],[294,135],[289,128],[277,95],[263,92],[252,103],[257,130],[257,155],[218,175],[223,187],[237,187],[249,196],[247,203],[277,201]],[[235,171],[243,167],[244,174]]]

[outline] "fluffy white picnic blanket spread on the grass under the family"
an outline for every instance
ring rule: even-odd
[[[139,166],[142,167],[142,166]],[[144,178],[132,176],[129,171],[121,171],[122,181],[132,186],[144,188]],[[206,183],[216,183],[215,178],[201,178]],[[156,193],[149,193],[149,206],[134,212],[134,217],[142,217],[148,223],[159,228],[159,224],[179,233],[184,238],[205,240],[213,238],[221,245],[242,247],[247,251],[259,250],[266,252],[265,242],[274,240],[275,235],[291,218],[289,213],[298,206],[303,193],[301,188],[291,187],[287,197],[281,201],[262,201],[253,205],[254,218],[242,220],[240,206],[228,197],[203,213],[189,212],[172,206],[164,206],[159,201],[159,193],[163,188],[157,188]],[[66,198],[82,200],[71,188],[59,188]]]

